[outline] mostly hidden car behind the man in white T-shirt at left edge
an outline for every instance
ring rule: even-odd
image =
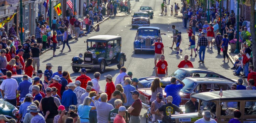
[[[6,79],[6,78],[7,78],[6,75],[0,76],[0,85],[2,84],[3,80]],[[19,85],[20,82],[23,81],[23,75],[12,75],[12,78],[17,81],[18,85]],[[31,84],[33,82],[33,80],[30,77],[28,77],[28,81],[31,82]],[[19,96],[18,96],[17,97],[17,107],[19,107],[19,105],[20,104],[19,104]]]

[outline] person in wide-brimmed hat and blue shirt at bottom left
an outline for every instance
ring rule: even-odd
[[[38,110],[37,106],[31,105],[31,106],[29,106],[27,111],[30,112],[30,114],[32,116],[34,116],[31,119],[31,123],[46,123],[44,117],[42,115],[38,114],[39,110]]]

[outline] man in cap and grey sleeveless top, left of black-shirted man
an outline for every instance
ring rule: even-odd
[[[156,100],[152,102],[151,106],[150,106],[150,112],[152,114],[152,122],[155,123],[157,120],[162,120],[161,117],[159,117],[157,114],[156,114],[156,110],[158,108],[160,108],[162,105],[164,105],[165,103],[162,101],[163,99],[163,94],[162,93],[157,93],[156,94]],[[162,114],[163,112],[161,112]]]

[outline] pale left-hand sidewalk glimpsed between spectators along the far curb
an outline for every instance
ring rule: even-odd
[[[131,13],[131,11],[130,11],[130,13]],[[117,14],[116,14],[116,16],[114,16],[114,15],[110,15],[110,16],[107,16],[107,15],[104,15],[103,16],[103,20],[102,21],[99,21],[98,23],[96,22],[96,23],[94,23],[94,26],[93,27],[96,27],[96,25],[97,24],[101,24],[102,22],[104,22],[105,20],[107,20],[107,19],[109,19],[109,18],[115,18],[115,17],[123,17],[123,16],[128,16],[129,14],[127,13],[127,12],[117,12]],[[78,20],[79,21],[83,21],[84,20],[84,18],[85,17],[82,17],[82,18],[78,18]],[[83,25],[83,29],[85,29],[85,24]],[[52,34],[53,34],[53,31],[52,31]],[[73,36],[73,38],[71,39],[71,40],[74,40],[75,39],[75,36]],[[71,41],[70,40],[70,41]],[[61,45],[62,45],[63,43],[61,42],[61,43],[59,43],[59,45],[58,45],[58,47],[60,47]],[[44,50],[44,51],[42,51],[42,53],[40,53],[40,56],[43,54],[43,53],[45,53],[45,52],[47,52],[47,51],[49,51],[49,50],[51,50],[52,49],[52,47],[51,48],[47,48],[46,50]]]

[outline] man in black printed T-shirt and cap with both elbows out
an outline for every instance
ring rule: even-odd
[[[155,113],[159,116],[159,117],[162,117],[162,121],[165,122],[167,119],[166,119],[166,116],[170,116],[171,114],[175,114],[175,111],[176,112],[180,112],[180,114],[182,114],[182,110],[177,107],[176,105],[172,104],[172,96],[168,96],[166,98],[166,102],[167,104],[165,105],[162,105],[160,108],[156,109]],[[163,114],[160,114],[159,112],[163,111]],[[170,112],[166,112],[166,111],[170,111]],[[171,114],[170,114],[171,113]]]

